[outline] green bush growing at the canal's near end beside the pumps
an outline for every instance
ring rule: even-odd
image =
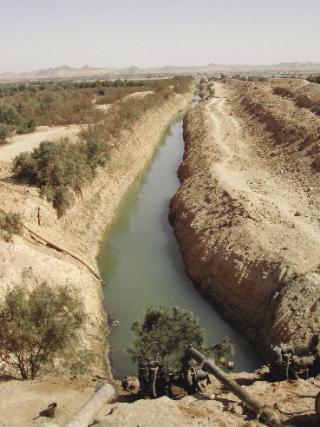
[[[198,319],[192,311],[176,306],[148,308],[144,317],[133,323],[132,330],[136,337],[128,351],[134,362],[142,356],[156,358],[163,366],[178,368],[190,344],[214,357],[218,363],[233,354],[233,346],[227,340],[205,348],[205,331]]]

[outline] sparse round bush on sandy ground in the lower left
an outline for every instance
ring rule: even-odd
[[[29,295],[23,288],[9,291],[0,308],[0,360],[34,379],[75,348],[84,320],[81,301],[66,288],[54,291],[43,283]]]

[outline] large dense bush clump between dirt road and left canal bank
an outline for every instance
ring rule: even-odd
[[[72,206],[74,194],[81,195],[107,159],[108,147],[98,138],[88,137],[76,144],[68,139],[44,141],[32,153],[18,155],[13,172],[17,181],[40,188],[60,217]]]

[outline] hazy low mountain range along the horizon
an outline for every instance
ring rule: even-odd
[[[320,73],[320,64],[283,62],[275,65],[223,65],[208,64],[204,66],[166,66],[161,68],[95,68],[84,65],[73,68],[67,65],[58,68],[47,68],[31,72],[0,74],[0,82],[51,80],[51,79],[81,79],[81,78],[125,78],[143,77],[148,75],[174,75],[174,74],[219,74],[219,73],[252,73],[252,74],[308,74]]]

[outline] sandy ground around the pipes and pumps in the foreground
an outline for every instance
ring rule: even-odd
[[[285,425],[316,427],[314,398],[320,390],[319,381],[269,383],[258,372],[228,376],[244,386],[255,399],[267,402]],[[1,382],[0,426],[63,426],[94,395],[100,383],[99,379],[90,382],[61,379]],[[33,420],[52,402],[58,404],[53,420],[44,417]],[[204,393],[179,401],[162,397],[132,402],[130,396],[122,394],[119,401],[101,408],[95,425],[262,427],[265,424],[259,423],[235,395],[211,377],[211,384]]]

